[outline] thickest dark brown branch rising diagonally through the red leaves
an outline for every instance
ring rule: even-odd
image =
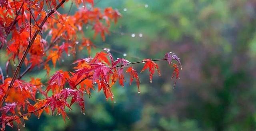
[[[63,4],[65,1],[66,1],[66,0],[62,0],[62,1],[58,4],[58,6],[56,6],[56,10],[57,10],[58,8],[60,8],[60,6],[62,6],[62,4]],[[22,3],[22,5],[23,5],[23,3]],[[24,60],[25,60],[25,58],[26,58],[26,56],[27,56],[27,54],[28,54],[28,51],[29,51],[31,45],[33,44],[34,40],[36,39],[36,36],[38,35],[38,33],[40,32],[40,30],[42,29],[42,27],[43,27],[44,23],[46,22],[46,20],[48,19],[48,17],[50,17],[54,12],[55,12],[55,10],[51,10],[51,11],[47,14],[47,16],[44,18],[44,20],[43,20],[42,23],[40,24],[39,30],[36,30],[34,36],[32,37],[30,43],[28,44],[28,46],[27,46],[27,48],[26,48],[26,50],[25,50],[25,52],[24,52],[24,54],[23,54],[23,56],[22,56],[22,58],[21,58],[19,64],[17,65],[17,68],[16,68],[16,70],[15,70],[14,76],[12,77],[12,81],[11,81],[10,85],[8,86],[8,89],[7,89],[7,91],[6,91],[6,93],[5,93],[4,97],[3,97],[3,99],[2,99],[1,102],[0,102],[0,107],[2,107],[4,101],[6,100],[7,95],[8,95],[8,93],[9,93],[9,91],[10,91],[12,85],[14,84],[14,81],[15,81],[17,75],[18,75],[18,72],[20,71],[20,68],[21,68],[21,66],[22,66],[22,64],[23,64],[23,62],[24,62]]]

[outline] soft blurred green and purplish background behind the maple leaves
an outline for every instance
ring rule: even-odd
[[[140,73],[141,93],[129,77],[113,88],[114,101],[94,91],[85,96],[86,113],[77,105],[64,123],[61,116],[34,115],[24,131],[248,131],[256,129],[256,0],[100,0],[95,6],[118,9],[122,18],[96,46],[110,48],[114,58],[136,62],[174,52],[182,62],[173,89],[172,68],[157,62],[162,76],[149,82]],[[60,13],[67,13],[71,2]],[[77,9],[73,6],[71,14]],[[89,26],[87,38],[94,32]],[[135,37],[132,37],[135,34]],[[141,37],[142,36],[142,37]],[[81,38],[84,36],[80,36]],[[102,49],[92,50],[92,56]],[[127,56],[126,56],[126,55]],[[1,55],[4,56],[4,55]],[[124,57],[125,56],[125,57]],[[56,69],[72,71],[76,58],[64,55]],[[2,60],[3,58],[1,58]],[[1,67],[4,67],[4,61]],[[140,72],[143,64],[134,65]],[[51,74],[54,72],[52,70]],[[44,70],[31,76],[43,78]]]

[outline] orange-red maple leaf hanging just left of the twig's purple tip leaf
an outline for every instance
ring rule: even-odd
[[[145,62],[145,64],[144,64],[144,67],[142,68],[142,70],[140,71],[140,73],[142,73],[142,71],[144,71],[145,69],[148,68],[148,70],[150,72],[150,74],[149,74],[150,82],[152,82],[152,77],[153,77],[153,74],[155,72],[155,69],[157,69],[158,75],[159,76],[161,75],[158,64],[153,62],[151,59],[144,59],[143,62]]]

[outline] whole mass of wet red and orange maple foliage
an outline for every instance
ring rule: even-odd
[[[62,115],[65,121],[68,118],[65,108],[71,111],[74,103],[78,103],[84,113],[84,95],[90,96],[91,91],[97,90],[103,91],[106,99],[113,99],[111,89],[115,83],[124,87],[124,73],[130,75],[130,84],[136,81],[140,92],[140,79],[132,64],[143,63],[141,72],[148,69],[152,82],[155,70],[160,75],[155,61],[166,60],[174,67],[172,77],[176,78],[175,83],[179,79],[180,60],[172,52],[166,53],[162,59],[131,63],[124,58],[114,59],[108,49],[96,53],[94,57],[75,61],[72,63],[74,71],[59,70],[49,76],[50,64],[55,67],[64,55],[74,56],[81,50],[88,50],[91,56],[90,51],[95,46],[90,38],[86,38],[85,27],[91,27],[94,38],[100,35],[104,41],[106,34],[110,33],[110,25],[121,17],[118,10],[111,7],[94,7],[93,0],[72,0],[71,7],[76,5],[78,11],[73,15],[70,11],[60,14],[57,9],[64,7],[67,1],[0,0],[0,51],[6,51],[4,57],[8,58],[7,74],[3,75],[4,68],[0,68],[2,130],[6,125],[13,127],[14,121],[19,129],[19,125],[25,126],[24,120],[28,120],[31,114],[39,118],[44,111]],[[82,34],[82,39],[78,39],[78,32]],[[43,38],[43,34],[46,37]],[[10,71],[13,66],[15,71]],[[33,77],[30,81],[22,80],[27,72],[35,68],[46,70],[47,83]],[[38,99],[37,93],[44,99]]]

